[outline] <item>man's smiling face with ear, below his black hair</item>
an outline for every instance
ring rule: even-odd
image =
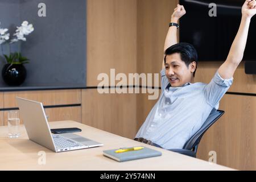
[[[180,53],[172,53],[166,56],[166,77],[172,87],[182,86],[193,81],[193,72],[196,69],[196,62],[192,61],[187,67],[181,60]]]

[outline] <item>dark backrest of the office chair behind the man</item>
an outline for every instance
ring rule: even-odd
[[[213,109],[205,120],[203,126],[201,126],[201,128],[184,144],[183,149],[192,150],[196,153],[199,142],[205,131],[207,131],[209,127],[212,126],[213,123],[216,122],[223,114],[223,110]]]

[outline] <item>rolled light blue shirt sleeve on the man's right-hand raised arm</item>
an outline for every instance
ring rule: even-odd
[[[221,98],[228,91],[232,83],[233,77],[224,79],[217,71],[209,84],[205,85],[204,88],[204,95],[208,104],[215,109],[218,109],[218,102],[220,102]]]

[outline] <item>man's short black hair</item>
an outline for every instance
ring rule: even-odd
[[[187,67],[189,66],[190,63],[196,61],[197,68],[197,52],[195,47],[192,46],[192,44],[181,42],[167,48],[166,51],[164,52],[164,64],[166,64],[166,56],[172,55],[173,53],[180,53],[181,60],[185,62]],[[195,72],[193,72],[193,77],[195,77],[195,73],[196,69]]]

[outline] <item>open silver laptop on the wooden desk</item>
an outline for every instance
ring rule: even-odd
[[[26,127],[28,138],[55,152],[78,150],[82,148],[102,146],[102,143],[95,142],[80,135],[65,133],[52,134],[44,107],[41,102],[16,97],[20,116]]]

